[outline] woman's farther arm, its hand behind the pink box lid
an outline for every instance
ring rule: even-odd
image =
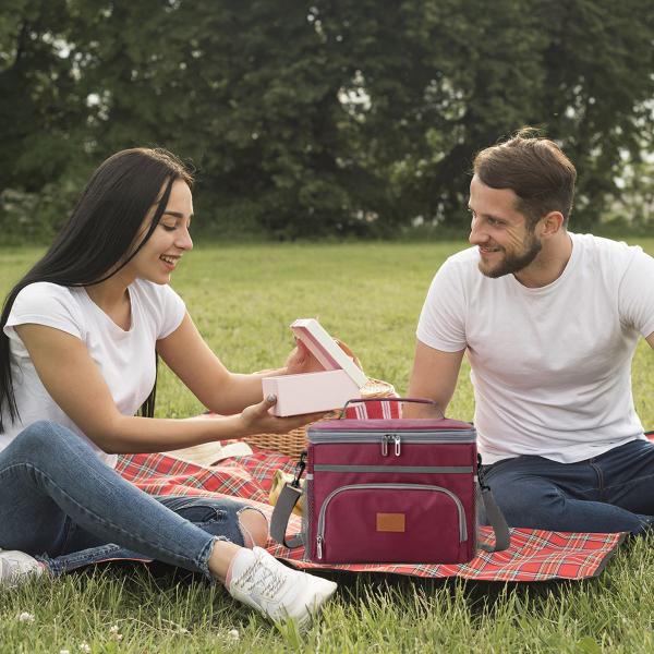
[[[261,402],[263,377],[323,370],[306,348],[299,344],[282,368],[251,375],[230,373],[204,341],[189,314],[170,336],[157,341],[157,352],[207,409],[223,415]]]

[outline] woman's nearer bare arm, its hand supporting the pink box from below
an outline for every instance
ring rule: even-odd
[[[44,325],[14,328],[52,399],[99,448],[110,453],[157,452],[258,433],[282,434],[322,414],[276,417],[274,402],[253,401],[242,413],[214,420],[146,419],[120,413],[100,371],[76,337]],[[220,364],[221,365],[221,364]],[[225,371],[225,375],[229,373]],[[225,380],[227,377],[222,377]],[[249,385],[245,385],[249,389]],[[250,399],[250,398],[249,398]]]

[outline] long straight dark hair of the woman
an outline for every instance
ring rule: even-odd
[[[4,326],[16,295],[36,281],[83,287],[116,275],[153,234],[175,180],[193,186],[191,172],[174,155],[164,149],[132,148],[109,157],[94,172],[72,216],[48,252],[10,291],[0,317],[0,409],[7,408],[11,424],[20,415]],[[157,209],[148,230],[131,251],[144,217],[155,204]],[[140,409],[142,415],[154,415],[156,390],[155,378],[153,390]],[[0,412],[0,434],[8,426]]]

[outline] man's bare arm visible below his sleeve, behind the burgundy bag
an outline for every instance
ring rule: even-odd
[[[415,344],[415,359],[413,372],[409,382],[410,398],[428,398],[445,410],[452,398],[463,352],[444,352],[429,348],[417,340]],[[434,415],[434,408],[427,404],[412,404],[407,402],[402,408],[404,417],[429,417]]]

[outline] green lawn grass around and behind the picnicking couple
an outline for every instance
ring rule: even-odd
[[[654,254],[654,240],[640,243]],[[280,365],[296,317],[318,316],[368,375],[405,391],[414,329],[435,269],[461,242],[245,245],[198,243],[175,274],[201,331],[222,361],[247,372]],[[0,293],[38,256],[0,250]],[[654,426],[654,358],[633,365],[637,409]],[[201,411],[162,371],[158,415]],[[470,420],[468,370],[449,415]],[[2,526],[0,525],[0,530]],[[219,586],[168,569],[113,566],[0,591],[0,653],[81,652],[651,652],[654,542],[620,548],[595,580],[464,583],[340,576],[340,590],[304,638],[234,604]],[[20,621],[23,613],[34,621]],[[112,640],[117,625],[122,640]],[[239,631],[238,641],[229,632]]]

